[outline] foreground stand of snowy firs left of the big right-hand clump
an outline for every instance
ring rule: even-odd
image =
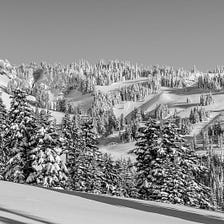
[[[0,101],[1,179],[45,187],[135,197],[131,161],[114,161],[97,147],[93,120],[68,113],[58,129],[48,111],[34,112],[26,93],[13,92],[10,111]],[[6,119],[7,118],[7,119]]]

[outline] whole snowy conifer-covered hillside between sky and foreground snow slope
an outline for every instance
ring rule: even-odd
[[[0,60],[0,179],[224,210],[224,67]]]

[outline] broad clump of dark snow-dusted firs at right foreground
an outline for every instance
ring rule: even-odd
[[[142,199],[210,208],[210,190],[200,183],[207,169],[195,152],[185,146],[171,122],[150,120],[139,130],[134,153],[137,156],[137,187]]]

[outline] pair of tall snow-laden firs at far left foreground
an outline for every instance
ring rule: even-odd
[[[10,125],[3,131],[2,143],[4,179],[62,187],[66,168],[60,159],[60,138],[53,123],[48,117],[37,118],[21,90],[14,91],[7,116]]]

